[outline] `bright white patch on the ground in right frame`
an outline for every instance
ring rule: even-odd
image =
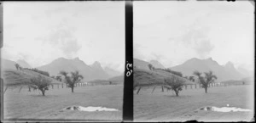
[[[222,107],[222,108],[218,108],[218,107],[204,107],[201,108],[201,110],[211,110],[211,111],[217,111],[217,112],[237,112],[237,111],[252,111],[251,109],[241,109],[241,108],[236,108],[236,107]]]

